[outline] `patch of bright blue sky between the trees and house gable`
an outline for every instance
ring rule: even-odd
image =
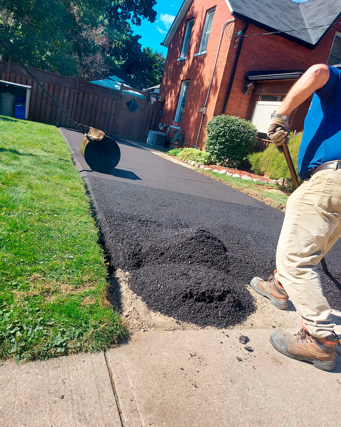
[[[140,26],[132,25],[134,34],[142,36],[140,43],[142,47],[151,47],[153,50],[167,55],[167,48],[160,46],[165,40],[165,35],[172,25],[172,22],[179,12],[183,0],[157,0],[154,10],[156,10],[156,20],[150,23],[148,20],[142,20]]]

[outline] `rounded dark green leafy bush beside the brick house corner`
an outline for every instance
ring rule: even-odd
[[[236,116],[212,117],[206,125],[205,149],[216,164],[238,167],[254,148],[258,131],[251,122]]]

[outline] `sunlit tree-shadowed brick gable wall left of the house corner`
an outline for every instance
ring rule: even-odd
[[[194,57],[194,54],[199,51],[206,12],[214,6],[216,6],[216,10],[210,38],[208,40],[207,53],[205,55]],[[183,61],[176,61],[176,59],[181,56],[187,21],[191,18],[194,18],[194,24],[186,59]],[[188,144],[195,145],[196,143],[201,120],[199,108],[204,105],[207,96],[221,29],[225,21],[231,18],[232,17],[226,6],[225,0],[217,0],[217,3],[208,2],[207,0],[194,0],[168,47],[165,71],[160,88],[161,99],[165,99],[162,123],[167,123],[167,126],[172,124],[179,100],[181,82],[182,80],[190,80],[185,109],[181,121],[181,128],[185,131],[185,142]],[[207,114],[204,117],[204,125],[206,123],[206,118],[211,118],[214,114],[215,103],[219,94],[223,72],[225,70],[229,46],[230,40],[226,35],[224,35],[211,86]],[[200,146],[203,145],[202,140],[205,135],[205,127],[202,128],[201,134]]]

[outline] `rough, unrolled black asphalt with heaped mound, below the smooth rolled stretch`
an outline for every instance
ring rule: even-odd
[[[110,265],[130,272],[130,287],[150,309],[218,328],[254,312],[246,285],[273,272],[282,212],[91,181]],[[338,280],[339,250],[326,257]],[[340,290],[320,272],[329,304],[340,309]]]

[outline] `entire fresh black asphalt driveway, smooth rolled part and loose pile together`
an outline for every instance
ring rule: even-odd
[[[197,325],[224,327],[254,311],[246,284],[275,268],[283,212],[117,138],[113,174],[90,170],[83,135],[60,129],[84,178],[112,269],[130,272],[130,287],[147,305]],[[341,278],[340,242],[326,260]],[[321,271],[332,308],[341,292]]]

